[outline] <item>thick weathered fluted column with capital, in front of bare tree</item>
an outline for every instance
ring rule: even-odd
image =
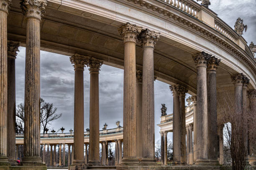
[[[23,165],[44,165],[40,157],[40,24],[46,0],[22,0],[27,23]]]

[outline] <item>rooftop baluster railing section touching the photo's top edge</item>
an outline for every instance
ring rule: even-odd
[[[182,10],[184,13],[191,15],[192,17],[198,18],[197,13],[200,10],[200,6],[193,0],[161,0],[167,4]]]

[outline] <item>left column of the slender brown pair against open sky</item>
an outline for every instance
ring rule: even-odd
[[[87,58],[75,54],[70,57],[74,64],[74,160],[72,165],[84,164],[84,65]],[[73,152],[73,148],[72,148]]]

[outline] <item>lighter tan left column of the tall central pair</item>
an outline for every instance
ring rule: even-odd
[[[141,27],[126,23],[118,32],[124,38],[123,163],[138,163],[136,115],[136,40]]]

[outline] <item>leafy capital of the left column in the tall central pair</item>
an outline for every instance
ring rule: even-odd
[[[124,42],[136,42],[139,33],[141,33],[141,29],[142,27],[126,23],[118,29],[118,32],[123,37]]]

